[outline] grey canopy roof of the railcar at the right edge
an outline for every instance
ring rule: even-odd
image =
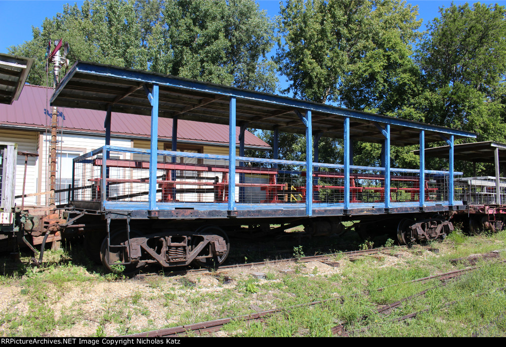
[[[494,163],[495,148],[499,151],[499,163],[506,163],[506,144],[484,141],[473,143],[460,143],[453,146],[453,159],[463,160],[475,163]],[[417,156],[420,151],[413,151]],[[426,157],[436,157],[448,159],[450,153],[450,146],[441,146],[426,148]]]

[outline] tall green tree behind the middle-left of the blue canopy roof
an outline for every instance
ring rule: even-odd
[[[145,4],[141,18],[151,30],[145,45],[152,71],[275,91],[276,66],[266,58],[274,23],[254,1],[172,0],[161,3],[156,15],[153,3]]]

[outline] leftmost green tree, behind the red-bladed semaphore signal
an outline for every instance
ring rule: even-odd
[[[42,29],[32,27],[33,38],[18,46],[9,47],[9,53],[35,59],[27,81],[46,84],[46,52],[48,42],[63,38],[69,42],[67,58],[111,64],[121,67],[146,69],[147,55],[140,45],[141,30],[134,4],[119,0],[86,1],[81,9],[65,5],[63,13],[46,18]],[[52,78],[49,79],[52,85]]]

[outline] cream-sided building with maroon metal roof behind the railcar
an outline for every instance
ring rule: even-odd
[[[12,105],[0,104],[0,138],[14,142],[18,152],[37,153],[28,157],[24,177],[25,157],[19,156],[16,166],[16,200],[21,204],[25,181],[25,206],[46,204],[45,195],[33,195],[48,189],[49,148],[51,140],[52,88],[25,85],[19,99]],[[58,173],[60,188],[66,188],[72,177],[72,159],[105,144],[106,112],[87,109],[58,109]],[[111,145],[149,148],[150,117],[112,113]],[[236,131],[239,134],[239,129]],[[177,150],[205,154],[228,155],[228,125],[211,124],[180,119],[178,121]],[[236,138],[236,142],[239,140]],[[160,118],[158,123],[158,149],[171,150],[172,119]],[[246,131],[244,147],[251,150],[269,150],[270,146]],[[57,188],[58,189],[58,188]],[[57,204],[66,201],[66,193],[57,194]]]

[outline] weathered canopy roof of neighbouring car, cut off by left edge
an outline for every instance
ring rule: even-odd
[[[18,100],[33,59],[0,53],[0,104]]]

